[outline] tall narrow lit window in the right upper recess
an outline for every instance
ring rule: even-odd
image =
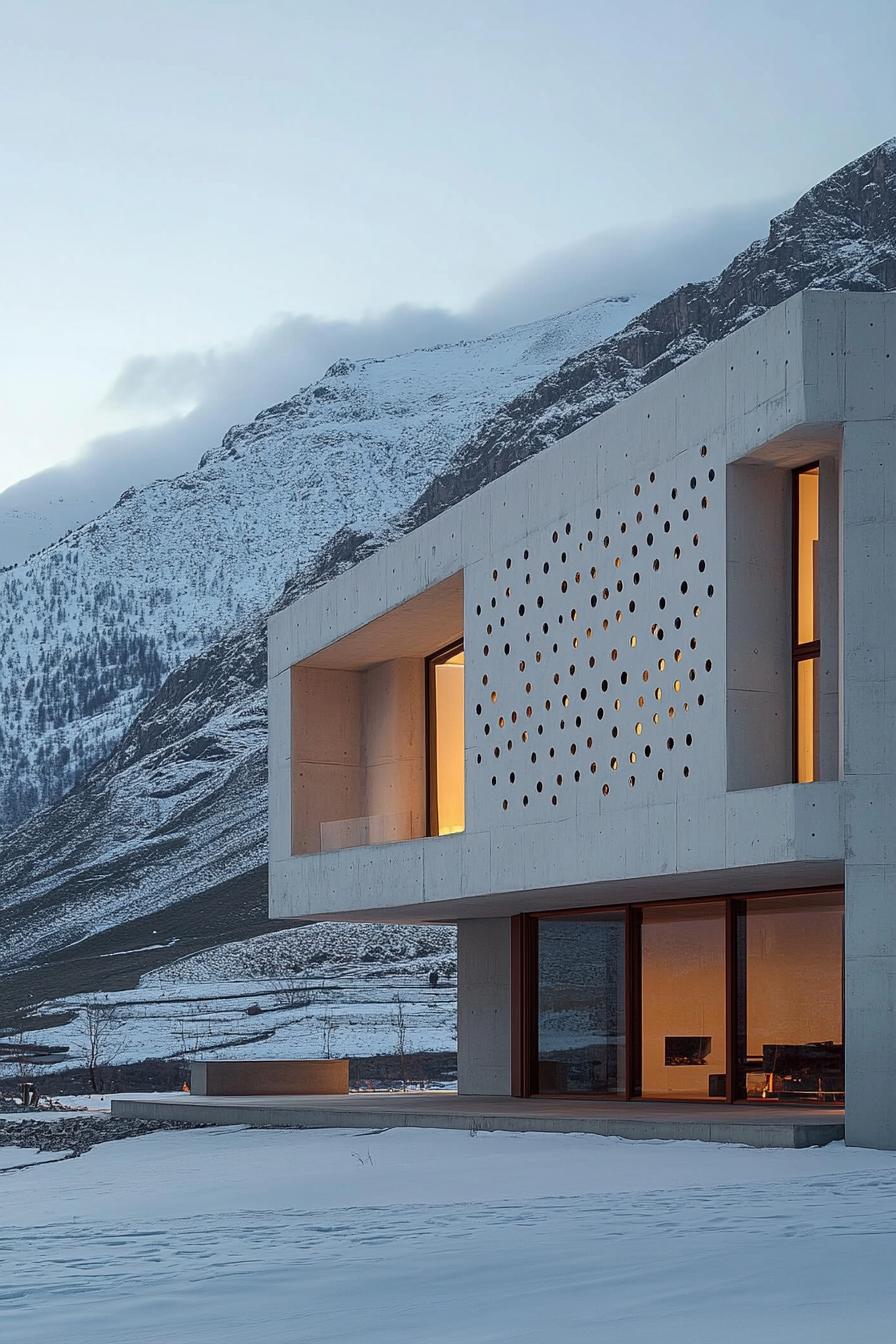
[[[818,464],[794,472],[794,780],[818,778]]]

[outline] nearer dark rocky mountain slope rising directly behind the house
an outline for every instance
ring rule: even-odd
[[[896,140],[807,192],[720,276],[649,306],[484,417],[410,507],[395,491],[399,512],[372,523],[361,477],[363,507],[345,503],[344,526],[296,564],[278,603],[811,286],[896,289]],[[111,953],[122,977],[263,929],[263,677],[259,610],[176,668],[109,757],[0,844],[0,1013],[44,984],[54,997],[110,984]]]

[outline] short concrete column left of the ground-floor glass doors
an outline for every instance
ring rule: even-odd
[[[458,919],[457,1087],[510,1095],[509,919]]]

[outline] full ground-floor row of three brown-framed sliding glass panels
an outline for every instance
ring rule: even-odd
[[[523,918],[524,1093],[842,1105],[842,891]]]

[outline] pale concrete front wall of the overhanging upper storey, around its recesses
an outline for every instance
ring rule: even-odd
[[[838,661],[823,669],[827,778],[797,788],[786,622],[768,685],[756,660],[739,684],[750,660],[732,632],[763,586],[780,612],[789,470],[822,460],[836,480],[841,425],[865,395],[850,349],[893,306],[799,296],[273,617],[271,914],[453,919],[584,905],[596,888],[625,900],[840,882]],[[728,489],[751,470],[776,500],[774,555],[752,590],[729,591]],[[465,832],[293,857],[281,679],[461,574]],[[836,597],[832,610],[836,625]],[[758,687],[775,704],[751,718]]]

